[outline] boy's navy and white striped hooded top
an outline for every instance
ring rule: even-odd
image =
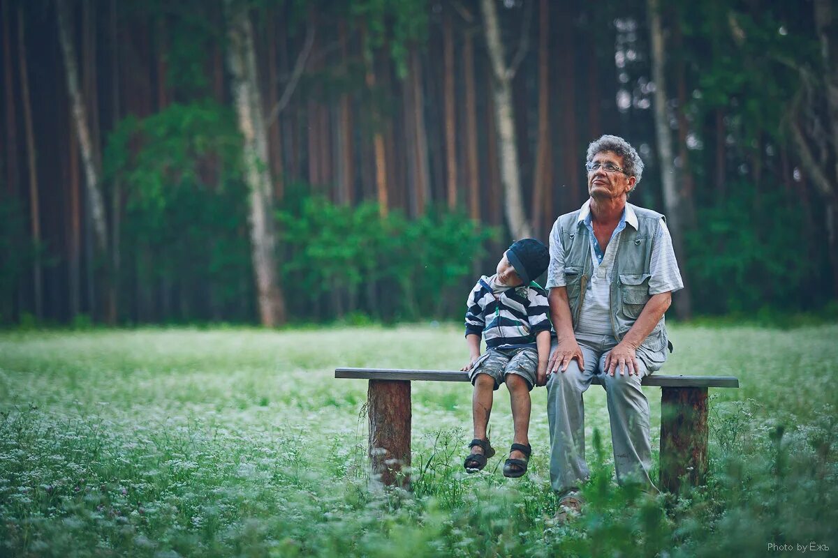
[[[466,335],[483,335],[487,349],[535,347],[535,335],[550,331],[547,292],[535,281],[492,292],[485,275],[468,294]]]

